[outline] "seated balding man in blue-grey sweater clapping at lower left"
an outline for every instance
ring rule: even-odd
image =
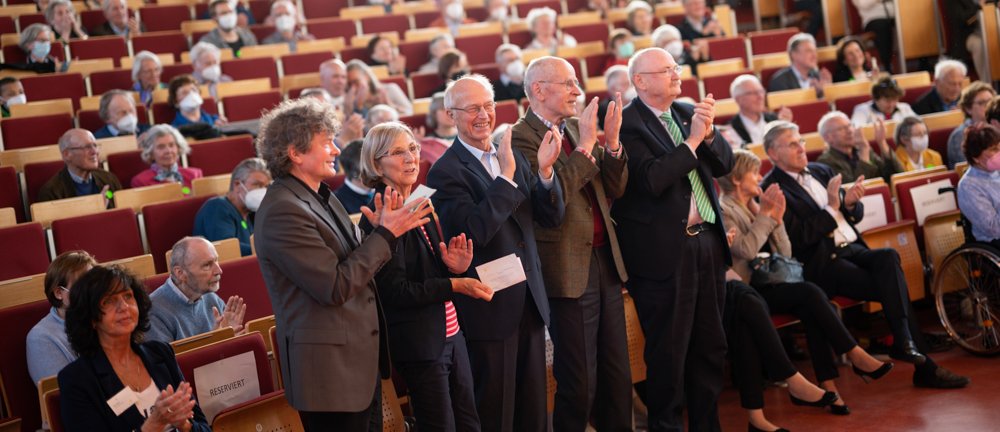
[[[173,342],[223,326],[244,332],[246,305],[240,296],[226,303],[219,290],[222,268],[215,246],[202,237],[180,239],[170,256],[170,277],[149,296],[150,340]]]

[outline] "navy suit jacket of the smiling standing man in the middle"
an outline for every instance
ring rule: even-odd
[[[427,174],[427,185],[437,189],[432,200],[441,216],[445,238],[461,233],[472,239],[475,255],[468,276],[478,278],[476,266],[512,253],[521,258],[527,283],[496,293],[493,301],[459,296],[458,318],[466,337],[502,340],[520,326],[525,296],[530,292],[537,313],[547,325],[549,300],[542,281],[541,263],[535,244],[534,222],[558,226],[566,214],[563,190],[555,177],[546,190],[524,155],[514,151],[517,169],[512,179],[491,179],[482,162],[458,140]]]

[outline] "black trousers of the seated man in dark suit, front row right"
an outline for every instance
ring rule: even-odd
[[[812,282],[770,285],[757,290],[772,313],[791,314],[802,321],[816,379],[826,381],[840,376],[833,354],[844,354],[858,343],[844,327],[826,293]]]

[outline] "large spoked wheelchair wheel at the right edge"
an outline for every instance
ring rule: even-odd
[[[965,244],[936,273],[934,299],[948,335],[972,354],[1000,354],[1000,254]]]

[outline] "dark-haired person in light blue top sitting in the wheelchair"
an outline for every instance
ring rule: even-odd
[[[958,208],[976,241],[1000,248],[1000,130],[982,124],[967,131],[963,150],[969,170],[958,182]]]

